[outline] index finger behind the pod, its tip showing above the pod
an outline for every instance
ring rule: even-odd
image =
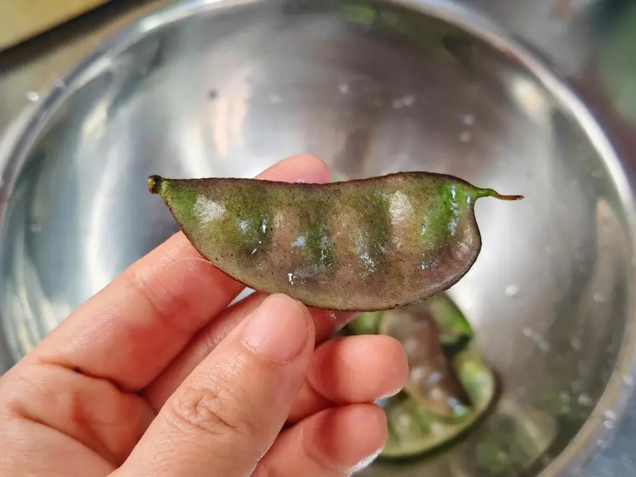
[[[318,158],[302,155],[277,163],[259,177],[326,182],[329,170]],[[138,391],[242,288],[201,259],[179,232],[79,307],[25,359]]]

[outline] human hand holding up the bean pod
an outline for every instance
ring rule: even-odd
[[[325,182],[312,156],[259,176]],[[0,378],[0,476],[340,477],[387,436],[408,366],[351,314],[254,293],[179,232]],[[366,459],[366,460],[365,460]]]

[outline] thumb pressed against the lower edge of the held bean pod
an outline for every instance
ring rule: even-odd
[[[115,474],[249,475],[283,427],[313,348],[307,308],[269,296],[172,394]]]

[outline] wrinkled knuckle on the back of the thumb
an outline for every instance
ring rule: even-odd
[[[252,435],[254,420],[236,394],[218,382],[205,388],[184,384],[172,399],[170,416],[175,425],[187,432]]]

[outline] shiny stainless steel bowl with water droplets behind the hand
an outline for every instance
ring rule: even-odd
[[[489,418],[434,459],[377,461],[365,475],[570,472],[623,412],[631,184],[567,84],[476,11],[436,0],[175,4],[102,45],[0,151],[5,369],[175,232],[148,175],[252,177],[313,153],[351,178],[428,170],[526,196],[478,203],[483,250],[450,293],[502,378],[495,416],[538,442],[536,456],[485,469],[480,446],[503,432]]]

